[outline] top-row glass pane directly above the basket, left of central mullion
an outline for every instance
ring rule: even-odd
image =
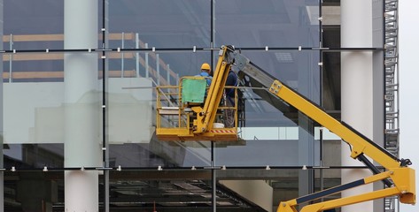
[[[209,47],[210,1],[110,0],[109,32],[137,34],[124,48]],[[122,48],[122,41],[110,42]]]

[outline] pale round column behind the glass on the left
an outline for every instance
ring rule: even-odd
[[[98,4],[95,0],[65,0],[65,49],[96,49]],[[66,53],[65,167],[101,165],[100,96],[97,53]],[[98,211],[97,170],[66,170],[65,211]]]

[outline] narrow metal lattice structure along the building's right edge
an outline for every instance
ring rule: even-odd
[[[385,141],[384,148],[399,157],[398,0],[384,2]],[[385,198],[384,211],[396,212],[398,196]]]

